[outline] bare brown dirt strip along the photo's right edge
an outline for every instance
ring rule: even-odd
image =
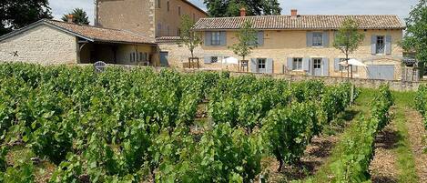
[[[423,143],[422,139],[427,136],[427,132],[422,124],[422,116],[412,108],[406,108],[405,113],[408,118],[406,124],[419,182],[427,182],[427,154],[423,153],[425,142]]]

